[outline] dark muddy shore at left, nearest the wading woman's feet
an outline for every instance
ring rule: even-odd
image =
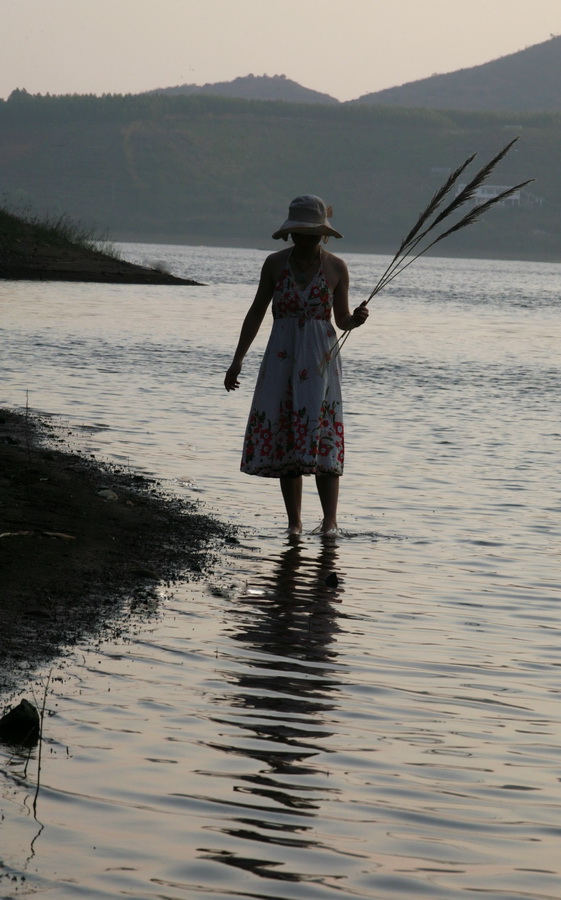
[[[201,578],[232,542],[155,479],[72,452],[48,417],[0,410],[0,705],[64,647],[153,609],[162,584]]]

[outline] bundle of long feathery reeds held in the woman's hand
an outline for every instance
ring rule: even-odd
[[[461,215],[462,208],[465,208],[465,205],[473,200],[483,182],[487,180],[495,166],[497,166],[506,156],[517,140],[518,138],[514,138],[514,140],[510,141],[506,147],[503,147],[500,153],[497,153],[490,162],[479,169],[471,181],[459,190],[453,199],[450,199],[452,189],[458,184],[460,177],[470,163],[473,162],[477,154],[473,153],[471,156],[468,156],[461,166],[458,166],[458,168],[451,173],[442,187],[434,194],[428,206],[423,210],[415,222],[413,228],[402,240],[396,254],[374,286],[365,303],[370,303],[372,298],[375,297],[376,294],[379,294],[382,288],[389,284],[390,281],[393,281],[394,278],[397,278],[404,269],[407,269],[411,263],[415,262],[416,259],[419,259],[420,256],[426,253],[427,250],[430,250],[431,247],[434,247],[435,244],[438,244],[439,241],[443,241],[448,235],[477,222],[478,219],[480,219],[492,206],[495,206],[497,203],[502,203],[507,197],[510,197],[516,191],[521,190],[534,180],[533,178],[529,178],[527,181],[522,181],[520,184],[515,184],[513,187],[506,188],[491,199],[472,206],[469,212]],[[444,205],[445,203],[446,205]],[[457,218],[458,215],[460,215],[459,219]],[[451,221],[453,224],[449,224]],[[444,224],[445,222],[446,224]],[[329,350],[322,363],[323,367],[339,353],[350,333],[350,330],[345,331]]]

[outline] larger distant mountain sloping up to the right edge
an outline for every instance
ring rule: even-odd
[[[365,94],[351,104],[491,112],[561,111],[561,37],[471,69]]]

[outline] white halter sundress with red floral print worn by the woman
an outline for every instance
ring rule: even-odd
[[[273,327],[249,413],[241,471],[269,478],[343,474],[341,360],[325,364],[337,335],[333,292],[320,266],[299,289],[290,256],[275,285]]]

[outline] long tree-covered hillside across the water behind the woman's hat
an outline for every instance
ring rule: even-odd
[[[448,171],[515,134],[495,183],[535,184],[440,252],[561,259],[561,116],[165,95],[0,102],[0,196],[113,240],[276,246],[289,200],[325,197],[340,251],[392,251]]]

